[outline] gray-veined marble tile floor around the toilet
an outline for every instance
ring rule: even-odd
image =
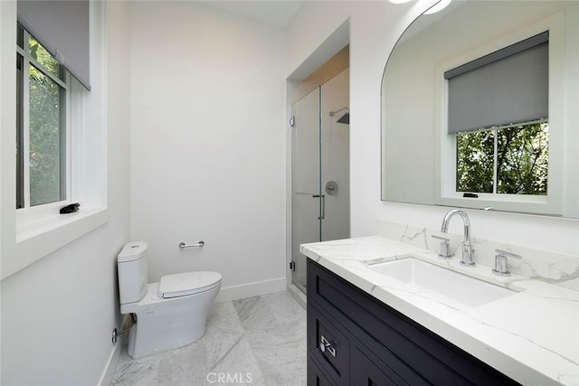
[[[111,386],[299,386],[306,357],[306,311],[277,292],[214,304],[204,337],[185,347],[140,359],[125,348]]]

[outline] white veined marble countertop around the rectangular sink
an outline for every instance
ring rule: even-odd
[[[302,244],[301,253],[372,297],[525,385],[579,385],[579,292],[532,278],[498,277],[478,264],[381,236]],[[466,306],[368,267],[365,261],[417,259],[510,287],[517,294]]]

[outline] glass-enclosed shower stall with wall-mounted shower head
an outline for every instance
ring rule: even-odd
[[[306,292],[299,245],[350,235],[349,71],[292,105],[291,279]]]

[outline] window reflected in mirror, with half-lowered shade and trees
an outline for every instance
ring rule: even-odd
[[[546,196],[548,32],[446,71],[455,191]]]

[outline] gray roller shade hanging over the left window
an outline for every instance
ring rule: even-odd
[[[18,23],[90,89],[89,0],[18,0]]]

